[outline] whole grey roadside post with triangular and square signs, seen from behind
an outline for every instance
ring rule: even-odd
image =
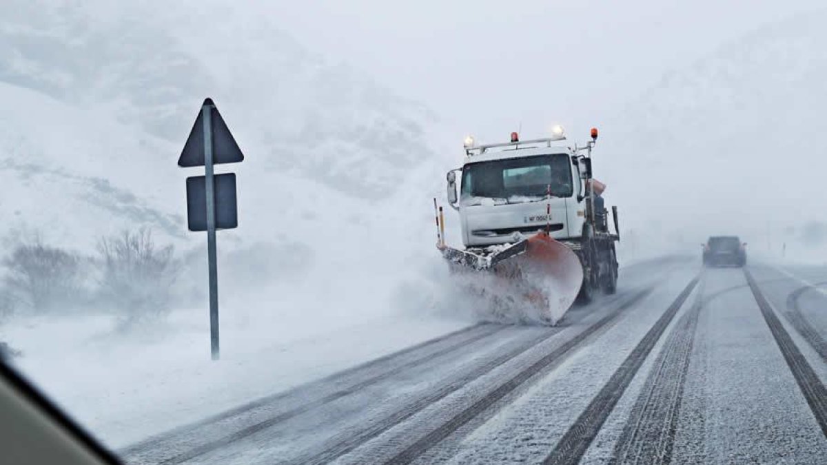
[[[213,100],[207,98],[184,150],[178,159],[181,167],[204,166],[205,176],[187,179],[187,218],[190,231],[207,231],[207,261],[209,267],[209,325],[210,352],[213,360],[219,357],[218,339],[218,252],[217,229],[236,228],[236,176],[215,175],[213,165],[243,161],[244,155],[227,124],[218,113]],[[200,189],[203,181],[203,190]],[[201,195],[203,193],[203,196]]]

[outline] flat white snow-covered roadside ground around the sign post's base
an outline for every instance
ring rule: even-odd
[[[447,333],[466,323],[428,315],[318,319],[231,314],[222,359],[209,359],[204,309],[179,310],[141,333],[106,317],[10,324],[16,366],[109,447],[120,448],[242,403]],[[310,311],[308,309],[308,311]]]

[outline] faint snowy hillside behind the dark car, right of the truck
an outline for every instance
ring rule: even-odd
[[[769,234],[779,252],[802,223],[827,220],[825,21],[822,10],[760,27],[664,75],[606,125],[597,170],[640,242],[696,250],[731,232],[765,251]],[[792,193],[806,200],[791,205]]]

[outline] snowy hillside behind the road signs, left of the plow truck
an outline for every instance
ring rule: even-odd
[[[227,243],[352,242],[374,224],[380,236],[410,231],[400,224],[410,213],[387,200],[420,199],[422,184],[408,187],[420,180],[438,185],[432,113],[313,55],[255,8],[14,3],[0,19],[0,91],[14,103],[0,108],[12,122],[0,158],[12,176],[33,173],[14,197],[37,205],[4,204],[14,228],[88,249],[93,236],[140,223],[200,244],[184,224],[184,177],[199,171],[174,163],[205,96],[247,155],[221,168],[239,175],[241,228],[222,233]],[[57,197],[74,208],[46,201]]]

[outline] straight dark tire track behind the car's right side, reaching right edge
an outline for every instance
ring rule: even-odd
[[[749,288],[753,291],[755,301],[758,302],[758,308],[761,309],[761,314],[767,322],[767,326],[772,332],[772,338],[775,339],[778,348],[781,349],[782,355],[792,376],[796,378],[801,394],[810,405],[815,421],[819,424],[822,433],[827,436],[827,388],[821,382],[818,375],[815,374],[810,363],[807,362],[804,355],[796,346],[787,333],[781,320],[778,319],[772,305],[764,297],[761,290],[758,288],[758,283],[753,279],[753,275],[746,269],[743,271],[744,276],[747,276]]]

